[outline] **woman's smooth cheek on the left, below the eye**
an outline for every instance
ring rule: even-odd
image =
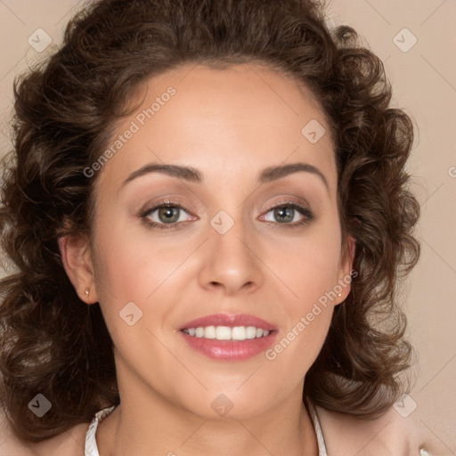
[[[161,359],[153,335],[161,339],[169,333],[179,318],[176,304],[188,297],[185,285],[191,279],[194,285],[195,271],[186,261],[195,250],[193,242],[184,237],[176,242],[160,240],[145,228],[138,234],[124,226],[110,227],[99,225],[105,234],[94,248],[103,318],[114,345],[131,362],[151,354]],[[149,353],[140,355],[144,346]]]

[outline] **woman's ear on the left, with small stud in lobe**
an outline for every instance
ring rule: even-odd
[[[94,304],[98,296],[94,281],[90,242],[84,235],[66,234],[58,240],[61,261],[77,292],[77,296],[86,304]],[[86,294],[88,290],[88,295]]]

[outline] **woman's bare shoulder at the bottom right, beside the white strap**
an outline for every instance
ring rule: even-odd
[[[357,419],[322,407],[317,412],[329,454],[419,456],[424,449],[432,456],[444,456],[448,452],[419,419],[403,417],[393,407],[377,419]]]

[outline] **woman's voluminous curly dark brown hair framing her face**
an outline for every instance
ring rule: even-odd
[[[69,21],[56,53],[14,81],[14,149],[4,159],[0,207],[2,248],[14,267],[0,281],[0,403],[17,436],[45,440],[119,403],[100,306],[77,297],[58,239],[91,232],[96,176],[84,169],[131,112],[126,101],[146,79],[189,62],[256,61],[316,95],[357,275],[303,396],[371,418],[403,393],[399,374],[412,350],[397,285],[419,258],[419,204],[404,169],[413,126],[388,108],[379,57],[353,28],[330,28],[325,14],[316,0],[99,0]],[[39,419],[28,411],[38,393],[52,403]]]

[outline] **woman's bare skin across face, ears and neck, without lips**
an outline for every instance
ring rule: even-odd
[[[305,372],[349,285],[273,361],[264,353],[212,360],[178,330],[208,314],[253,314],[277,325],[279,342],[350,273],[354,240],[341,238],[330,134],[311,143],[301,133],[312,119],[329,126],[312,94],[272,69],[185,66],[150,79],[115,136],[170,85],[175,95],[92,177],[92,239],[60,240],[69,279],[87,304],[100,303],[114,343],[121,404],[98,428],[99,451],[316,455]],[[204,181],[150,173],[122,185],[152,162],[197,168]],[[296,162],[317,167],[328,188],[302,171],[256,182],[265,167]],[[178,229],[142,222],[142,208],[162,197],[185,209]],[[272,208],[283,199],[304,204],[314,219],[297,225],[305,216],[295,210],[295,227],[280,223]],[[210,224],[221,210],[234,222],[224,234]],[[153,220],[164,224],[159,211]],[[128,302],[142,310],[134,326],[119,317]],[[232,403],[224,416],[211,407],[222,394]]]

